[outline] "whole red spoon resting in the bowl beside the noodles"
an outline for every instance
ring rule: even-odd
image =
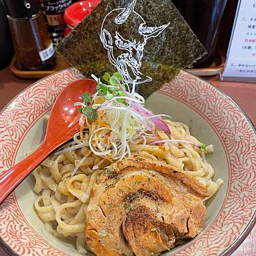
[[[84,92],[94,93],[96,81],[81,79],[68,85],[51,110],[44,142],[29,157],[0,173],[0,204],[42,160],[79,131],[79,112],[74,103],[82,101]]]

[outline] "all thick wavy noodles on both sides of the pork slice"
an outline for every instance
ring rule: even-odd
[[[200,143],[190,135],[188,126],[170,120],[166,122],[170,136],[156,130],[155,134],[160,140]],[[213,151],[212,146],[208,146],[205,153],[202,153],[196,146],[185,142],[151,145],[152,141],[151,134],[130,141],[131,154],[150,157],[166,162],[177,170],[184,170],[203,183],[210,196],[216,193],[223,181],[212,180],[214,168],[205,159],[205,153]],[[111,164],[107,156],[94,155],[89,146],[83,146],[85,144],[76,136],[74,142],[53,153],[33,172],[36,180],[34,192],[38,194],[34,207],[45,228],[58,238],[75,240],[77,250],[82,254],[86,253],[84,229],[90,191],[95,183],[101,182],[105,167]]]

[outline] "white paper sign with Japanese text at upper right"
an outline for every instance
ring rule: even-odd
[[[222,77],[256,78],[256,0],[238,2]]]

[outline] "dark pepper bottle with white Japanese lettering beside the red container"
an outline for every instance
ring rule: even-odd
[[[74,0],[40,0],[44,21],[47,23],[47,29],[54,46],[64,38],[66,29],[66,23],[63,19],[64,11],[73,2]]]

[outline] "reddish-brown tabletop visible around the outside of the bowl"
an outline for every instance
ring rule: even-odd
[[[256,125],[256,84],[235,83],[220,81],[218,76],[205,77],[207,81],[211,82],[217,88],[220,88],[231,99],[233,99],[246,115],[251,119],[253,125]],[[16,94],[27,88],[35,80],[19,79],[10,73],[9,68],[4,68],[0,71],[0,111],[3,107],[11,101]],[[0,255],[6,256],[0,248]],[[256,256],[256,227],[251,231],[250,235],[233,253],[233,256]]]

